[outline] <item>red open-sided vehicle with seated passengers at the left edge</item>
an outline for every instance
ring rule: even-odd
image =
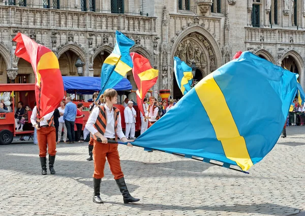
[[[0,84],[0,93],[9,94],[9,101],[11,101],[10,113],[0,113],[0,144],[11,144],[13,138],[16,136],[26,136],[34,133],[29,120],[23,126],[22,132],[15,130],[15,106],[18,101],[22,101],[24,105],[29,105],[32,109],[35,103],[35,84]],[[32,115],[32,111],[28,112],[28,116]]]

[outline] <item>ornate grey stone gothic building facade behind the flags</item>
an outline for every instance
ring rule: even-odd
[[[35,81],[31,65],[14,55],[18,32],[49,47],[64,76],[100,76],[118,30],[159,69],[153,90],[177,98],[174,56],[200,80],[238,50],[298,73],[304,87],[304,29],[304,0],[0,0],[0,83]],[[136,89],[131,72],[127,78]]]

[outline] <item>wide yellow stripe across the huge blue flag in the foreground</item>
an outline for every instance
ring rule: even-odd
[[[203,82],[195,86],[195,90],[214,127],[217,139],[222,143],[226,157],[235,161],[243,171],[249,170],[253,163],[246,141],[238,132],[226,99],[213,74],[207,75]]]

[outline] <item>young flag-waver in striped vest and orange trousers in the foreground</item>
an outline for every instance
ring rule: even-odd
[[[110,171],[114,175],[116,184],[123,195],[124,203],[138,202],[139,199],[133,198],[127,189],[124,174],[120,167],[117,151],[118,144],[107,143],[107,140],[116,140],[117,137],[123,142],[131,142],[122,131],[119,110],[113,106],[117,102],[117,92],[114,89],[106,89],[103,95],[105,105],[94,108],[86,123],[86,128],[92,133],[94,138],[93,201],[95,203],[103,203],[100,197],[100,185],[101,179],[104,177],[107,157]],[[132,145],[128,143],[127,146]]]

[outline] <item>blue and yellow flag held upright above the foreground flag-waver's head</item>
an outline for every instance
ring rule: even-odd
[[[118,31],[115,33],[115,39],[114,49],[102,66],[100,94],[106,89],[113,88],[133,68],[129,50],[135,42]]]

